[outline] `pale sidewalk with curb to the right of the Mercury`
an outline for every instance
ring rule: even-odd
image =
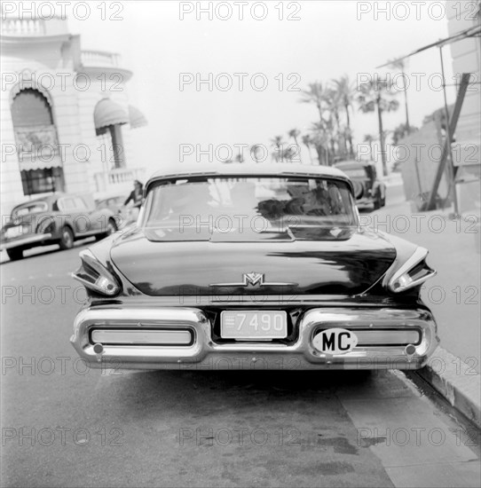
[[[438,275],[422,287],[422,299],[438,322],[441,344],[421,375],[481,426],[479,215],[454,220],[448,209],[412,213],[409,202],[400,202],[361,217],[429,249],[428,264]]]

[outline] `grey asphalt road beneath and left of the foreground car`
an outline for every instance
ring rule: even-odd
[[[86,368],[80,248],[0,266],[2,486],[479,486],[478,432],[398,372]]]

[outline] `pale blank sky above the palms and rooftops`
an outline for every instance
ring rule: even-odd
[[[254,3],[249,2],[242,20],[232,3],[231,18],[225,19],[229,14],[225,2],[89,4],[91,15],[86,20],[69,16],[69,30],[81,35],[83,49],[119,52],[122,66],[133,71],[128,83],[130,103],[148,120],[145,128],[138,129],[143,131],[139,139],[143,142],[135,153],[149,171],[163,161],[192,162],[197,157],[207,161],[209,155],[197,153],[196,145],[208,150],[211,144],[216,159],[224,158],[228,148],[235,154],[234,145],[269,146],[277,135],[288,140],[287,132],[294,128],[305,134],[317,112],[314,106],[299,103],[301,92],[296,89],[341,75],[354,82],[386,72],[394,76],[396,71],[376,67],[448,35],[445,2],[429,0],[392,2],[387,12],[382,12],[386,2],[276,0],[258,2],[254,11]],[[198,5],[209,9],[209,4],[211,19],[209,12],[197,9]],[[398,4],[397,10],[393,4]],[[444,56],[450,83],[449,47]],[[418,127],[426,114],[444,104],[440,69],[438,49],[408,62],[410,122]],[[209,74],[212,91],[209,83],[197,87],[196,81],[209,79]],[[405,121],[402,82],[396,80],[401,106],[384,114],[387,130]],[[448,87],[447,96],[453,102],[454,87]],[[358,106],[351,122],[355,143],[377,133],[376,115],[362,114]],[[184,145],[183,158],[180,145]],[[193,154],[188,154],[189,145]],[[247,150],[244,155],[250,161]],[[302,158],[309,162],[305,148]]]

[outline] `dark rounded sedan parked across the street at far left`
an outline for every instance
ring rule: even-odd
[[[61,249],[69,249],[75,240],[89,236],[99,240],[116,230],[111,210],[92,210],[80,196],[54,193],[12,209],[9,222],[2,227],[0,249],[15,261],[29,248],[59,244]]]

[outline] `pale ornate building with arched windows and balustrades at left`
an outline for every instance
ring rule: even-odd
[[[146,119],[120,56],[83,51],[67,20],[2,20],[2,214],[52,192],[128,194]]]

